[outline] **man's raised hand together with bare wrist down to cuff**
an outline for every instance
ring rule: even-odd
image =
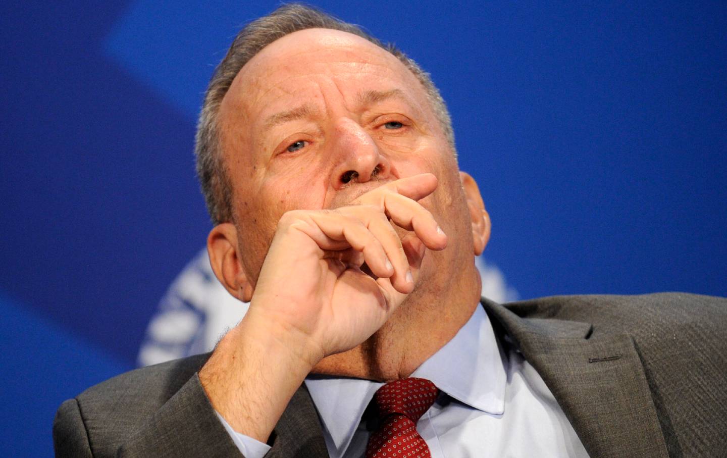
[[[436,186],[420,174],[350,206],[281,217],[245,318],[200,371],[235,430],[267,440],[310,369],[368,339],[411,293],[425,247],[446,246],[417,202]],[[393,225],[410,233],[399,238]]]

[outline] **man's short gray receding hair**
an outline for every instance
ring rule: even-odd
[[[286,4],[270,13],[270,15],[252,21],[238,33],[227,55],[222,59],[220,65],[215,68],[204,96],[204,103],[197,124],[196,168],[207,211],[215,225],[233,220],[233,187],[222,158],[222,133],[220,132],[218,120],[220,103],[222,103],[222,99],[227,94],[240,69],[252,57],[257,55],[262,48],[289,33],[308,28],[329,28],[353,33],[397,57],[406,68],[409,68],[411,73],[414,73],[414,76],[424,87],[431,108],[441,124],[452,151],[455,151],[454,131],[446,104],[429,74],[423,71],[414,60],[406,57],[393,44],[385,45],[370,36],[358,25],[344,23],[336,17],[302,4]]]

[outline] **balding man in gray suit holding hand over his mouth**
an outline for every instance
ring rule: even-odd
[[[358,28],[299,6],[248,25],[210,83],[197,154],[210,262],[249,310],[212,355],[66,401],[57,454],[681,457],[727,445],[725,301],[479,302],[490,221],[446,107],[415,63]]]

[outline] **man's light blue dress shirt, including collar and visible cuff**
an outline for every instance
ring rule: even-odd
[[[433,458],[588,457],[545,382],[512,345],[497,341],[482,307],[411,377],[442,392],[417,423]],[[364,457],[370,432],[361,417],[383,383],[310,376],[305,385],[331,458]],[[220,420],[245,457],[270,449]]]

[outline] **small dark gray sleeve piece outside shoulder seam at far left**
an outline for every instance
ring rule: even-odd
[[[91,446],[79,403],[68,399],[61,404],[53,421],[53,448],[56,457],[89,458]]]

